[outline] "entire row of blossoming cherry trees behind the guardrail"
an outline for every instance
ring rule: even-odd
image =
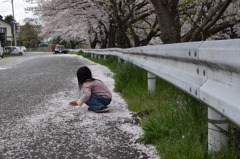
[[[27,0],[33,1],[33,0]],[[42,36],[123,47],[239,36],[239,0],[34,0]],[[157,19],[156,19],[157,17]]]

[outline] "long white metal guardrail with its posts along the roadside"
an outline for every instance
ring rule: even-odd
[[[226,145],[219,130],[227,131],[226,118],[240,126],[240,39],[82,51],[117,56],[147,70],[152,92],[158,76],[206,103],[209,150]]]

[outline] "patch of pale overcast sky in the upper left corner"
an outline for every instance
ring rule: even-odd
[[[31,4],[25,0],[13,0],[14,4],[14,15],[18,23],[22,24],[25,18],[34,18],[33,13],[25,12],[25,8],[36,6],[36,4]],[[0,0],[0,15],[3,18],[7,15],[12,15],[12,3],[11,0]]]

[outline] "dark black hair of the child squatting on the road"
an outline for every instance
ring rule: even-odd
[[[82,87],[83,83],[86,82],[87,80],[89,81],[95,80],[94,78],[92,78],[92,72],[87,66],[83,66],[78,69],[77,78],[80,88]]]

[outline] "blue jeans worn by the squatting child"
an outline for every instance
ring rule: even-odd
[[[97,94],[91,94],[91,97],[85,104],[87,104],[89,108],[92,109],[93,111],[96,111],[101,110],[102,108],[110,104],[111,101],[112,101],[111,98],[107,99]]]

